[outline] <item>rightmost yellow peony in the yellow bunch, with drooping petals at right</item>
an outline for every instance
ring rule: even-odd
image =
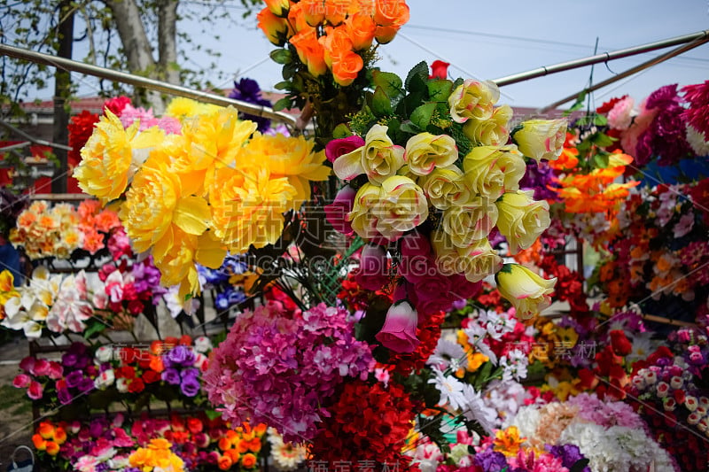
[[[323,166],[323,152],[313,152],[315,143],[303,136],[261,135],[253,138],[238,154],[238,168],[268,167],[271,178],[286,177],[295,188],[293,209],[310,199],[310,182],[327,180],[330,168]]]

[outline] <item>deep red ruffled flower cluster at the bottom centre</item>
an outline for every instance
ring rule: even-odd
[[[311,453],[318,460],[354,462],[373,460],[400,471],[410,470],[401,454],[414,418],[414,405],[400,385],[390,382],[346,383],[331,417],[321,423]],[[340,462],[341,463],[341,462]]]

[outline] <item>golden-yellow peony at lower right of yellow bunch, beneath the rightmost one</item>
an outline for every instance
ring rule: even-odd
[[[287,178],[271,178],[268,168],[219,169],[209,192],[215,236],[232,253],[276,243],[297,193]]]

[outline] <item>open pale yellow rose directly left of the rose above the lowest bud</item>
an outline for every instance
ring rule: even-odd
[[[456,247],[468,247],[486,238],[497,222],[497,206],[485,197],[474,197],[464,205],[443,212],[441,226]]]

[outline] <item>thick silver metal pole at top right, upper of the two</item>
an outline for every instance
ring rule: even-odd
[[[588,58],[560,62],[558,64],[554,64],[553,66],[542,66],[531,71],[500,77],[499,79],[495,79],[494,82],[498,87],[502,87],[503,85],[510,85],[512,83],[528,81],[529,79],[534,79],[536,77],[543,77],[544,75],[556,74],[557,72],[564,72],[571,69],[577,69],[579,67],[591,66],[593,64],[598,64],[613,59],[627,58],[629,56],[635,56],[635,54],[643,54],[643,52],[650,52],[651,50],[659,50],[662,48],[676,46],[678,44],[690,43],[697,39],[706,38],[707,36],[709,36],[709,29],[692,33],[690,35],[675,36],[674,38],[656,41],[654,43],[646,43],[640,46],[626,48],[624,50],[604,52],[602,54],[596,54],[595,56],[589,56]]]

